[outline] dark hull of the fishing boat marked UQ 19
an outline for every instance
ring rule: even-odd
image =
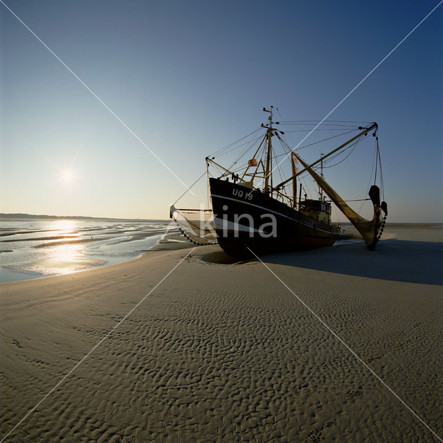
[[[259,190],[220,179],[209,186],[219,245],[233,257],[332,246],[340,235]]]

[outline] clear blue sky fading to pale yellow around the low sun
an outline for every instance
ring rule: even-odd
[[[2,1],[188,185],[264,106],[322,119],[438,4]],[[379,123],[390,221],[443,221],[442,30],[443,4],[329,117]],[[168,218],[183,185],[1,3],[0,40],[0,212]]]

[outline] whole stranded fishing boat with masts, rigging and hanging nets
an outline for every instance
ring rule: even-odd
[[[171,207],[170,216],[177,221],[183,234],[196,244],[218,242],[228,255],[234,257],[250,255],[251,251],[269,253],[332,246],[342,235],[341,226],[332,223],[334,204],[358,230],[368,248],[373,250],[381,237],[388,214],[386,202],[380,200],[380,189],[375,183],[377,167],[381,176],[377,123],[357,127],[355,130],[358,134],[328,154],[322,154],[320,159],[307,163],[284,140],[280,123],[273,121],[273,107],[263,110],[269,114],[268,122],[261,125],[264,134],[255,138],[255,143],[246,145],[246,152],[252,151],[253,156],[242,167],[237,165],[246,152],[242,152],[230,167],[217,163],[215,156],[206,157],[212,208]],[[330,159],[336,160],[341,152],[349,156],[346,150],[352,152],[368,134],[372,134],[377,141],[376,173],[369,191],[373,206],[370,220],[352,210],[323,177],[323,166]],[[284,147],[284,154],[291,163],[290,177],[275,185],[273,172],[278,170],[284,154],[275,154],[273,138]],[[232,147],[228,146],[228,149],[232,150]],[[210,177],[210,167],[218,172],[215,177]],[[320,173],[316,172],[317,168],[320,168]],[[306,174],[316,181],[318,198],[307,198],[306,192],[302,198],[305,186],[300,178]]]

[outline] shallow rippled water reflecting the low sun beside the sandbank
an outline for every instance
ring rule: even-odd
[[[0,282],[133,260],[177,228],[169,221],[0,221]]]

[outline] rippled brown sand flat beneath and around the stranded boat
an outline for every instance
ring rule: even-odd
[[[44,399],[4,441],[437,442],[442,228],[429,232],[261,257],[293,293],[258,260],[183,244],[1,284],[0,439]]]

